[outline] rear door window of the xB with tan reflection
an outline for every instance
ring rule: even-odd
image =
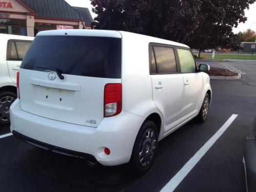
[[[176,73],[176,60],[174,49],[169,47],[154,46],[157,73]]]

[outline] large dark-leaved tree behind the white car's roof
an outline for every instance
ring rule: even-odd
[[[91,0],[96,29],[124,30],[203,50],[230,47],[255,0]]]

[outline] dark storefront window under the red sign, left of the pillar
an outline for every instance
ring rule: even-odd
[[[26,36],[26,20],[0,19],[0,33]]]

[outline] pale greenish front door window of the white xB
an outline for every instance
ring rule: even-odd
[[[196,63],[193,55],[187,49],[177,49],[180,59],[180,67],[182,73],[195,73]]]

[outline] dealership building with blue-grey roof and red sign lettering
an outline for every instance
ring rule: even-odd
[[[65,0],[0,0],[0,33],[35,36],[54,29],[91,29],[88,9],[79,13]]]

